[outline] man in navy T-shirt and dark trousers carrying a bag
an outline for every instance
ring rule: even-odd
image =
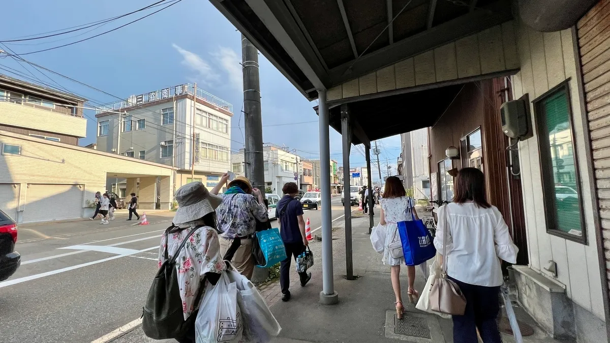
[[[290,300],[290,259],[301,255],[305,247],[309,245],[305,236],[305,221],[303,220],[303,205],[295,199],[299,193],[295,182],[288,182],[282,187],[284,198],[279,200],[276,206],[276,215],[280,223],[280,236],[284,241],[287,258],[281,262],[279,267],[279,284],[282,287],[282,301]],[[299,273],[301,286],[305,286],[311,280],[311,273]]]

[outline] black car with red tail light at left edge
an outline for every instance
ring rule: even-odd
[[[0,281],[8,279],[21,265],[21,255],[15,251],[17,224],[0,210]]]

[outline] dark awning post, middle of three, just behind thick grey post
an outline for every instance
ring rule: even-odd
[[[351,125],[348,104],[341,105],[341,135],[343,138],[343,208],[345,208],[345,270],[347,280],[354,278],[354,261],[351,241],[350,149]]]

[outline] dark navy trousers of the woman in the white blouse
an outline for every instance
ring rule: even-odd
[[[500,286],[477,286],[450,279],[458,284],[466,297],[464,315],[453,316],[453,342],[477,343],[478,328],[484,343],[501,343],[497,322],[500,313]]]

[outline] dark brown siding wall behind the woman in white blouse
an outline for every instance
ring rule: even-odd
[[[519,247],[517,262],[527,264],[528,248],[525,215],[520,198],[521,182],[512,176],[507,178],[508,139],[500,127],[500,105],[504,101],[503,88],[504,78],[464,85],[445,114],[430,131],[430,171],[438,172],[438,162],[445,159],[445,149],[448,146],[459,148],[463,137],[481,128],[483,171],[488,201],[500,210],[511,228],[514,242]],[[454,159],[453,167],[458,169],[464,167],[462,159]],[[509,201],[509,192],[512,201]],[[437,198],[436,194],[433,196]]]

